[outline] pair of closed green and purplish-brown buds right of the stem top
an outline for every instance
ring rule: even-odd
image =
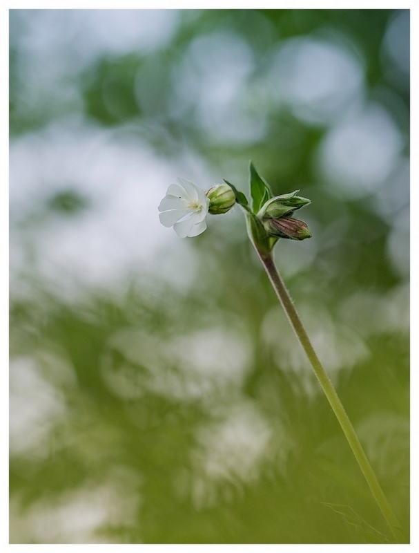
[[[297,196],[298,190],[291,194],[282,194],[268,200],[260,209],[257,216],[262,221],[262,225],[268,234],[278,238],[289,238],[291,240],[304,240],[311,238],[309,227],[293,218],[293,213],[308,205],[310,200]]]

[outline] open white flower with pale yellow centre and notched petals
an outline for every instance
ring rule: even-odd
[[[179,185],[170,185],[159,205],[160,223],[173,227],[177,236],[197,236],[206,229],[209,200],[204,190],[184,178]]]

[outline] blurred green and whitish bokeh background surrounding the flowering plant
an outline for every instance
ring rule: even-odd
[[[409,10],[12,10],[10,133],[10,541],[390,539],[240,209],[159,224],[250,159],[409,536]]]

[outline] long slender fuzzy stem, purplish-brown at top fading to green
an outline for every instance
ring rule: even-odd
[[[336,418],[338,419],[338,422],[342,427],[342,430],[344,431],[344,435],[347,437],[353,454],[358,461],[358,465],[360,466],[362,474],[364,474],[365,480],[367,480],[369,488],[371,489],[371,492],[376,499],[376,502],[378,503],[378,506],[380,507],[381,512],[384,515],[384,518],[386,519],[394,538],[396,538],[396,541],[398,541],[398,543],[406,543],[405,537],[403,536],[400,529],[400,523],[398,522],[396,515],[393,513],[393,510],[391,509],[386,496],[384,496],[384,492],[382,491],[376,475],[374,474],[374,471],[369,463],[369,460],[365,455],[364,449],[362,449],[360,440],[358,440],[358,436],[356,435],[351,421],[349,420],[349,417],[344,410],[344,406],[340,402],[338,394],[336,393],[335,388],[333,387],[333,384],[329,379],[329,376],[324,370],[322,364],[320,363],[320,359],[316,355],[315,350],[311,345],[311,341],[306,333],[306,330],[304,328],[304,325],[302,324],[297,310],[295,310],[289,292],[285,288],[284,282],[282,281],[280,274],[275,267],[275,263],[273,263],[272,252],[262,252],[257,248],[253,240],[252,243],[255,246],[255,250],[260,258],[260,261],[262,261],[262,264],[264,265],[269,279],[271,280],[273,288],[277,293],[277,297],[282,303],[282,307],[286,312],[289,322],[291,323],[291,326],[293,327],[295,334],[297,335],[298,340],[300,341],[300,344],[302,345],[302,348],[304,349],[307,357],[309,357],[309,362],[311,363],[313,371],[318,378],[318,381],[320,382],[320,386],[322,386],[322,389],[326,394],[327,399],[329,400],[331,408],[333,409],[333,412],[335,413]]]

